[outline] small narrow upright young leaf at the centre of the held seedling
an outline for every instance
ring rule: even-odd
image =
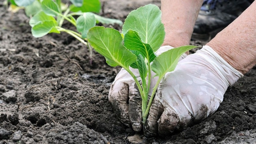
[[[138,69],[139,69],[139,73],[140,73],[140,78],[142,80],[142,84],[146,84],[148,68],[147,68],[146,62],[141,54],[137,57],[137,63],[138,63]]]

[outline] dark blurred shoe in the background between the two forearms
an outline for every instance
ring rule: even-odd
[[[252,2],[252,0],[204,0],[191,39],[211,40]]]

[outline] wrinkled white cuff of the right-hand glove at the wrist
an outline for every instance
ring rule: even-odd
[[[208,45],[204,45],[203,48],[198,50],[196,53],[208,60],[218,71],[222,79],[226,80],[228,85],[234,84],[240,77],[244,76],[242,73],[228,64],[227,61],[225,61]]]

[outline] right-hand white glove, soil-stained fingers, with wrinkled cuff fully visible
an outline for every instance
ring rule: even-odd
[[[218,109],[228,86],[242,76],[210,46],[188,55],[161,81],[146,121],[146,136],[165,136],[204,120]]]

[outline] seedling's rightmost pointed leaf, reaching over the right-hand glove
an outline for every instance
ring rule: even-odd
[[[176,68],[176,65],[178,64],[180,56],[184,52],[187,52],[188,50],[191,50],[196,47],[198,46],[180,46],[160,54],[158,57],[155,58],[155,60],[153,60],[151,65],[152,71],[156,73],[155,76],[159,76],[159,78],[162,78],[165,75],[165,73],[173,71]]]

